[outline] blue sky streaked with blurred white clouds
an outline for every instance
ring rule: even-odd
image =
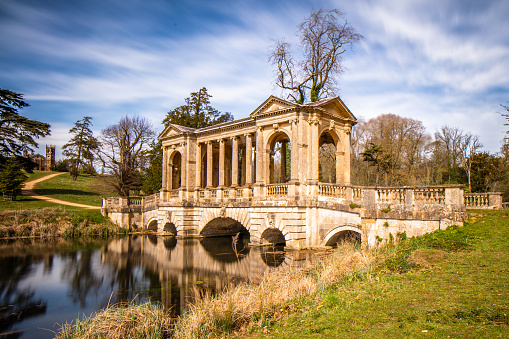
[[[342,100],[357,118],[383,113],[443,125],[499,150],[509,104],[509,1],[1,0],[0,87],[48,122],[60,147],[84,116],[93,129],[166,112],[207,87],[236,119],[270,95],[274,39],[294,42],[312,9],[338,8],[364,36],[347,52]]]

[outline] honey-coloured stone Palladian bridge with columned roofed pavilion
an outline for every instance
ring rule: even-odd
[[[244,119],[200,129],[170,124],[159,135],[160,193],[104,199],[103,213],[161,234],[241,232],[296,248],[344,239],[375,246],[398,233],[463,224],[460,186],[351,185],[355,124],[339,97],[300,105],[274,96]]]

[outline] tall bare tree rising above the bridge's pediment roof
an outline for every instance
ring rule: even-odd
[[[302,58],[292,56],[291,45],[276,41],[269,61],[276,66],[276,85],[289,90],[289,96],[302,104],[309,93],[310,101],[336,92],[337,77],[343,72],[343,53],[362,39],[337,9],[319,9],[304,19],[297,35]]]

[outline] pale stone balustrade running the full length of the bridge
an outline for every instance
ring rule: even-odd
[[[311,187],[311,186],[310,186]],[[187,192],[182,189],[163,191],[163,200],[159,194],[146,197],[103,199],[103,209],[120,208],[122,206],[142,206],[156,209],[164,203],[179,204],[183,200],[200,204],[201,202],[232,202],[232,201],[263,201],[274,197],[285,197],[287,200],[308,201],[309,198],[333,198],[334,202],[355,203],[364,210],[384,209],[389,206],[407,206],[419,209],[419,206],[434,205],[465,205],[469,208],[502,208],[500,193],[463,194],[460,185],[431,186],[431,187],[364,187],[319,183],[316,185],[315,195],[300,194],[295,185],[270,184],[260,190],[261,194],[254,195],[251,187],[212,188]],[[293,194],[289,194],[293,192]],[[164,201],[164,203],[162,202]]]

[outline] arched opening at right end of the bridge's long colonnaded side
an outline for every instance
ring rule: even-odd
[[[265,149],[265,180],[267,183],[285,183],[291,178],[291,139],[284,130],[275,130],[268,138]]]

